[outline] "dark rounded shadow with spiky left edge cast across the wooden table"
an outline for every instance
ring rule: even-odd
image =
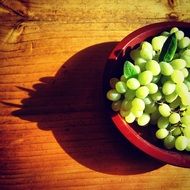
[[[105,114],[102,74],[116,42],[88,47],[67,60],[55,77],[41,78],[14,116],[51,130],[80,164],[109,174],[138,174],[163,163],[133,147]]]

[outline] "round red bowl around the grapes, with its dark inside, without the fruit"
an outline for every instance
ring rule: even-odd
[[[144,26],[125,37],[119,42],[111,52],[104,71],[104,95],[110,89],[109,80],[112,77],[121,75],[124,60],[129,57],[129,51],[144,40],[149,40],[153,36],[163,31],[168,31],[172,27],[178,27],[185,33],[190,31],[190,23],[184,22],[161,22]],[[165,163],[180,167],[190,168],[190,153],[165,149],[158,140],[154,138],[153,126],[140,127],[134,124],[127,124],[119,113],[111,111],[110,102],[105,100],[106,108],[111,116],[116,128],[137,148],[146,154],[163,161]]]

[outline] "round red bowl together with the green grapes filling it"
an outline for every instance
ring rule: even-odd
[[[190,23],[140,28],[114,48],[104,72],[106,107],[135,146],[190,167]]]

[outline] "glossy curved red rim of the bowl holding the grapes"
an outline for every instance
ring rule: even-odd
[[[110,65],[117,62],[117,59],[120,55],[125,54],[125,49],[130,45],[130,43],[135,40],[141,38],[145,33],[152,33],[156,31],[156,33],[160,33],[163,30],[170,29],[171,27],[179,27],[179,28],[186,28],[190,29],[190,23],[182,22],[182,21],[165,21],[165,22],[158,22],[143,26],[126,37],[124,37],[112,50],[110,53],[105,70],[104,70],[104,80],[106,77],[109,77],[111,74],[111,70],[106,73],[106,69],[111,69]],[[117,53],[116,53],[117,52]],[[106,80],[105,80],[106,81]],[[104,84],[104,87],[107,84]],[[104,88],[104,95],[105,95]],[[115,124],[116,128],[123,134],[123,136],[135,145],[138,149],[143,151],[144,153],[148,154],[149,156],[160,160],[164,163],[168,163],[174,166],[186,167],[190,168],[190,154],[188,153],[181,153],[177,151],[167,150],[164,148],[160,148],[149,141],[142,138],[129,124],[127,124],[124,119],[121,117],[119,113],[113,112],[108,110],[109,115],[111,116],[112,122]],[[143,143],[143,144],[142,144]]]

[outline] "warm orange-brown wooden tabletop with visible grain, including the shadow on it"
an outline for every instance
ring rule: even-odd
[[[190,22],[188,0],[0,0],[0,189],[190,189],[190,170],[133,147],[102,74],[126,35]]]

